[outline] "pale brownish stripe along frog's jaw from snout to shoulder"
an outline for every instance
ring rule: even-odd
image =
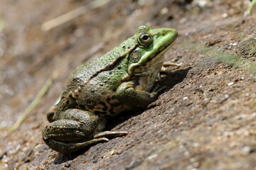
[[[134,63],[134,64],[131,64],[129,66],[129,69],[128,69],[128,74],[129,74],[129,77],[133,77],[134,76],[134,69],[138,68],[138,67],[141,67],[143,68],[144,70],[147,70],[151,67],[151,64],[153,64],[154,62],[157,62],[156,60],[160,59],[164,53],[166,53],[167,50],[169,50],[172,46],[174,45],[174,42],[171,42],[171,44],[169,45],[166,45],[166,46],[163,46],[161,47],[161,49],[155,53],[155,55],[152,55],[154,57],[150,57],[149,60],[146,61],[146,65],[142,65],[141,63]],[[153,60],[154,59],[154,60]],[[144,62],[145,63],[145,62]],[[164,62],[161,62],[159,64],[163,64]],[[143,72],[141,74],[142,76],[144,75]],[[137,75],[138,76],[138,75]],[[146,76],[146,75],[145,75]]]

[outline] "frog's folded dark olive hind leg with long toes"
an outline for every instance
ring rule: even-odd
[[[88,111],[71,108],[60,114],[43,130],[43,140],[55,151],[61,153],[75,152],[96,142],[108,141],[104,135],[95,135],[100,123],[97,115]],[[116,132],[115,135],[125,135],[124,132]],[[95,136],[94,136],[95,135]]]

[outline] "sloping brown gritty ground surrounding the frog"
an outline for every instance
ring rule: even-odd
[[[51,30],[43,23],[91,1],[1,1],[0,169],[255,169],[256,11],[250,1],[112,0]],[[206,2],[206,3],[205,3]],[[129,135],[75,154],[44,144],[41,130],[69,74],[132,36],[138,26],[175,28],[166,91],[142,113],[113,120]],[[7,131],[52,72],[48,94]]]

